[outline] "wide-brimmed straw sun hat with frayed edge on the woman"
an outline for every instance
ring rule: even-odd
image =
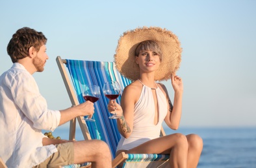
[[[162,61],[155,72],[155,81],[170,79],[181,63],[181,44],[175,34],[159,27],[142,27],[124,32],[118,40],[114,62],[119,72],[132,81],[140,76],[140,70],[135,62],[135,50],[140,42],[152,40],[158,43],[162,50]]]

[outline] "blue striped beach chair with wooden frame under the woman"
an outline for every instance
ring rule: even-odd
[[[103,85],[106,81],[118,81],[123,90],[131,81],[124,78],[116,70],[113,62],[62,59],[60,56],[57,57],[56,61],[72,105],[79,105],[79,103],[84,102],[83,85],[99,85],[101,90],[99,100],[94,103],[95,110],[92,118],[96,121],[84,121],[83,117],[71,120],[70,140],[75,139],[77,120],[84,140],[103,140],[109,145],[112,154],[112,167],[116,167],[123,161],[125,161],[123,167],[170,167],[169,154],[125,154],[122,152],[118,156],[115,155],[120,133],[116,120],[109,119],[111,115],[107,109],[109,100],[103,94]],[[121,96],[116,99],[117,103],[120,103],[120,98]],[[161,134],[165,135],[164,129],[162,129]]]

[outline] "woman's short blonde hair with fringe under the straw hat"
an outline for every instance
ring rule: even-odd
[[[162,50],[159,47],[159,45],[155,41],[152,41],[152,40],[142,41],[136,47],[135,56],[138,57],[138,54],[140,54],[140,51],[146,51],[146,50],[156,52],[157,55],[159,55],[160,60],[162,60]]]

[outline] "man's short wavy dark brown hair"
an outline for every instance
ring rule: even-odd
[[[12,63],[16,63],[18,59],[23,59],[29,56],[29,48],[34,47],[38,52],[42,45],[45,45],[47,38],[42,32],[36,32],[36,30],[23,27],[17,30],[10,39],[7,52]]]

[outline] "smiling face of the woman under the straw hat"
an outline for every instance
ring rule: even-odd
[[[160,57],[156,52],[142,50],[136,56],[136,63],[140,67],[140,72],[152,72],[159,68]]]

